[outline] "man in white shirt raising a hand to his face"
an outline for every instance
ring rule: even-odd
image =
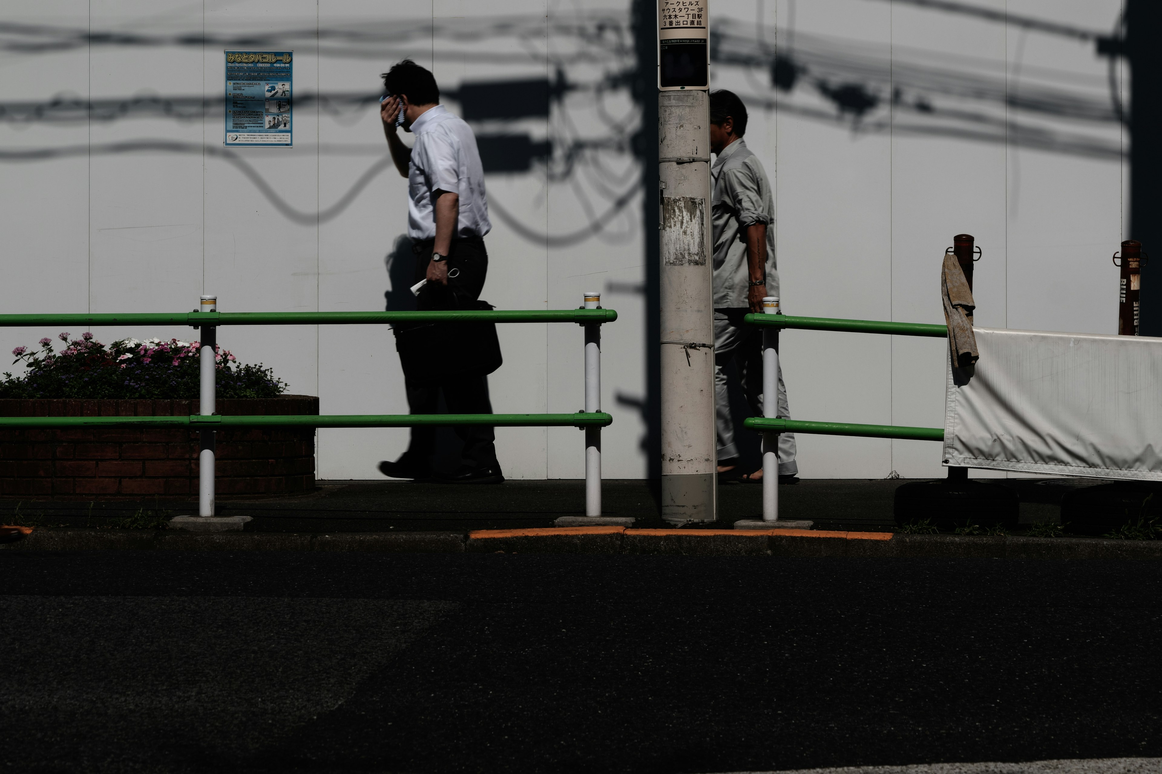
[[[468,124],[439,104],[435,77],[410,59],[383,73],[383,87],[389,95],[380,106],[383,133],[395,168],[408,179],[408,236],[416,254],[415,281],[428,280],[416,309],[471,308],[480,298],[488,274],[483,237],[492,230],[476,137]],[[401,111],[403,130],[416,135],[413,149],[396,133]],[[440,392],[450,413],[493,413],[485,375],[433,377],[404,369],[404,383],[413,414],[436,413]],[[461,465],[442,479],[502,483],[493,428],[464,426],[456,432],[464,441]],[[435,449],[436,428],[413,427],[408,450],[396,462],[381,462],[379,470],[393,478],[430,478]]]

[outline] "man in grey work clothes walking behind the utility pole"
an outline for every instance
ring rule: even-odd
[[[718,158],[710,169],[715,246],[715,410],[718,431],[718,472],[738,466],[738,444],[730,414],[726,368],[738,366],[743,392],[754,417],[762,415],[761,334],[744,321],[747,312],[762,312],[763,296],[779,296],[775,266],[775,203],[759,158],[743,140],[746,106],[732,92],[710,93],[710,150]],[[779,417],[790,418],[787,388],[779,374]],[[758,437],[755,437],[758,442]],[[779,436],[779,480],[797,484],[795,436]],[[739,480],[758,482],[762,469]]]

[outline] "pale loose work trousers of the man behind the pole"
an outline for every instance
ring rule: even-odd
[[[743,381],[743,393],[751,406],[752,415],[762,417],[762,332],[743,320],[748,311],[747,309],[715,310],[715,425],[718,431],[719,461],[739,456],[727,392],[726,367],[731,361],[734,361],[738,367]],[[791,412],[787,403],[787,388],[783,385],[781,366],[777,399],[779,417],[790,419]],[[751,435],[754,437],[754,443],[761,442],[758,433]],[[795,476],[796,473],[798,473],[798,463],[795,461],[795,434],[780,433],[779,475]]]

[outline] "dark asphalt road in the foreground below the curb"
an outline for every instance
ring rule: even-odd
[[[5,552],[0,592],[5,772],[1162,755],[1154,563]]]

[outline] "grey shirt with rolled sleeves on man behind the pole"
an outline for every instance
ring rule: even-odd
[[[718,154],[710,168],[711,224],[715,246],[715,309],[748,306],[751,274],[746,262],[746,226],[767,225],[767,295],[779,295],[775,261],[775,201],[759,157],[743,139]]]

